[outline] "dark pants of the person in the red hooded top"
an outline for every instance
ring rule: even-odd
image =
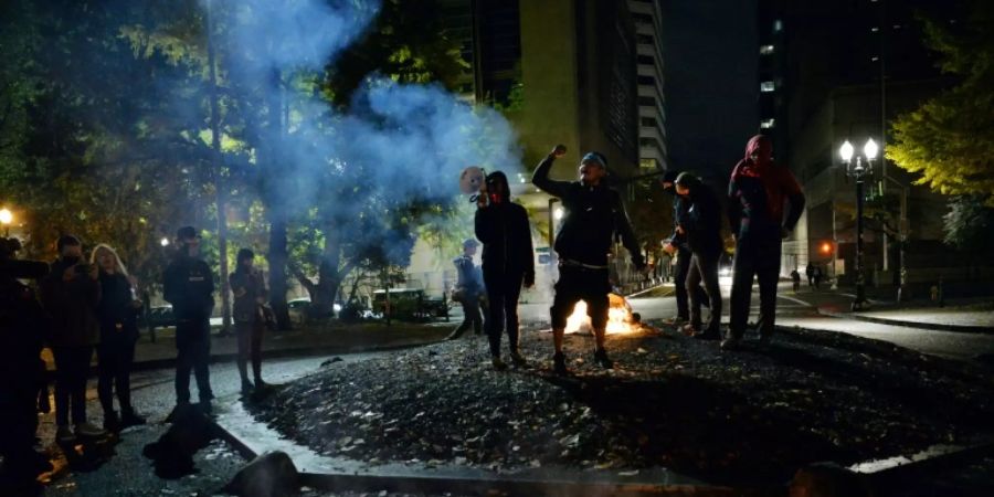
[[[740,237],[736,244],[729,334],[741,338],[749,318],[752,279],[759,279],[759,332],[771,336],[776,315],[776,282],[780,278],[780,236]]]

